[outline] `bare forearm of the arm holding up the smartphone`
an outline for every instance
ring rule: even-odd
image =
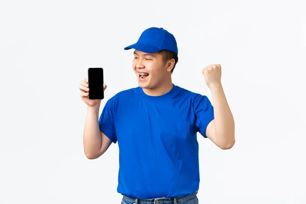
[[[87,107],[86,121],[83,133],[83,145],[85,155],[88,158],[94,157],[99,152],[102,139],[98,123],[99,105]]]

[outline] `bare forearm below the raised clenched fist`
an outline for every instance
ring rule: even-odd
[[[233,146],[235,143],[235,122],[224,94],[222,85],[211,88],[214,117],[215,137],[222,146]]]

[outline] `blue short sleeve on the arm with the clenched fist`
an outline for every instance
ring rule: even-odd
[[[193,108],[197,132],[207,138],[205,134],[207,125],[214,119],[214,108],[211,101],[207,96],[198,94],[193,98]]]

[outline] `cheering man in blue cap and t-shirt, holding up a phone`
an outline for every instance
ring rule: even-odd
[[[198,203],[197,132],[221,149],[235,143],[221,66],[212,64],[202,70],[213,108],[207,96],[172,83],[178,50],[171,33],[149,28],[124,49],[131,48],[139,86],[111,97],[100,116],[100,100],[89,100],[88,80],[81,81],[81,97],[88,105],[85,155],[96,159],[118,141],[117,191],[123,195],[122,203]]]

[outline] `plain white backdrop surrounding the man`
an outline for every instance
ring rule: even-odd
[[[135,43],[163,27],[179,46],[173,83],[211,92],[222,66],[236,144],[198,135],[200,203],[306,203],[304,1],[1,1],[0,203],[120,203],[118,145],[88,160],[79,83],[103,67],[101,103],[137,86]],[[160,184],[163,185],[163,184]]]

